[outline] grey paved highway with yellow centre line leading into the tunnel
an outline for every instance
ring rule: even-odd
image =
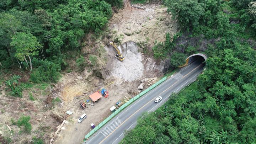
[[[118,144],[124,137],[125,130],[135,127],[138,117],[142,116],[144,112],[155,111],[168,100],[172,92],[177,93],[183,87],[195,81],[203,71],[203,66],[204,63],[197,60],[180,69],[172,78],[165,80],[153,90],[138,98],[102,128],[98,129],[86,140],[86,144]],[[154,100],[158,96],[161,96],[162,100],[155,103]]]

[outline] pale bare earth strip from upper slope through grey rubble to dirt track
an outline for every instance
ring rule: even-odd
[[[139,7],[139,8],[136,8]],[[116,106],[116,102],[125,102],[126,97],[133,97],[138,94],[137,87],[140,80],[159,77],[162,75],[164,66],[156,63],[152,57],[145,56],[137,43],[145,42],[150,48],[155,41],[165,41],[165,34],[171,35],[177,32],[177,24],[167,15],[166,7],[159,5],[127,5],[114,14],[110,20],[109,28],[113,39],[118,38],[121,44],[117,44],[124,55],[125,60],[120,62],[114,55],[112,46],[105,46],[107,63],[103,65],[102,73],[106,78],[99,79],[91,75],[91,71],[85,69],[83,73],[69,73],[63,76],[62,81],[57,85],[56,95],[62,98],[64,111],[72,111],[67,122],[54,139],[55,144],[77,144],[82,143],[84,136],[90,132],[90,124],[95,126],[111,114],[109,110]],[[103,42],[102,42],[103,43]],[[82,110],[79,102],[89,99],[89,95],[98,89],[105,87],[109,91],[109,97],[102,97],[94,106],[86,105]],[[145,87],[146,88],[146,87]],[[145,89],[144,88],[144,89]],[[83,114],[87,118],[78,123],[77,119]]]

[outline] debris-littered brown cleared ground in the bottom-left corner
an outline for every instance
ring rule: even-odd
[[[32,137],[49,139],[49,133],[55,130],[58,122],[52,117],[51,111],[46,107],[45,99],[50,87],[45,90],[33,88],[33,90],[23,90],[23,98],[12,97],[5,91],[5,86],[0,87],[0,135],[12,139],[15,144],[27,144]],[[29,99],[33,95],[34,101]],[[21,116],[30,116],[32,125],[31,134],[23,131],[23,127],[12,124],[11,119],[17,121]],[[12,131],[10,131],[8,124]]]

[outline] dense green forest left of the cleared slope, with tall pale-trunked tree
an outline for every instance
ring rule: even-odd
[[[32,71],[32,82],[55,82],[79,53],[82,38],[106,28],[121,0],[1,0],[0,69]]]

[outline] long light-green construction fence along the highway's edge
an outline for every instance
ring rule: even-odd
[[[132,103],[133,101],[137,100],[139,97],[143,96],[144,94],[146,94],[148,91],[154,89],[156,86],[158,86],[159,84],[161,84],[163,81],[166,80],[166,76],[164,78],[162,78],[161,80],[159,80],[158,82],[156,82],[154,85],[151,85],[150,87],[148,87],[148,89],[140,92],[137,96],[134,96],[133,98],[131,98],[128,102],[124,103],[121,107],[119,107],[116,111],[114,111],[109,117],[107,117],[104,121],[102,121],[100,124],[98,124],[98,126],[96,126],[94,129],[92,129],[88,134],[85,135],[85,139],[89,138],[92,134],[94,134],[98,129],[100,129],[105,123],[107,123],[108,121],[110,121],[110,119],[112,119],[113,117],[115,117],[121,110],[123,110],[125,107],[127,107],[128,105],[130,105],[130,103]]]

